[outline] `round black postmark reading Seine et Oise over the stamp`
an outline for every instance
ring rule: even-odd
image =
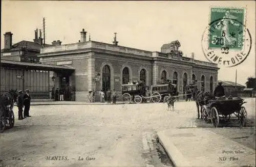
[[[212,20],[202,36],[202,49],[207,60],[225,67],[237,66],[245,61],[251,44],[246,26],[228,17]]]

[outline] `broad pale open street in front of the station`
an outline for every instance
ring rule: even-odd
[[[254,108],[255,99],[249,99],[246,109],[252,120],[255,120]],[[32,117],[25,120],[16,119],[16,107],[14,112],[14,128],[1,133],[1,162],[4,165],[146,166],[146,136],[160,130],[197,127],[199,124],[229,135],[227,137],[231,139],[250,128],[249,133],[254,131],[254,134],[246,134],[248,137],[240,142],[247,145],[246,140],[254,140],[255,143],[255,126],[232,133],[230,129],[233,128],[214,129],[202,120],[195,121],[195,102],[176,102],[175,112],[168,111],[165,103],[34,105],[31,106]],[[47,160],[53,156],[61,157]]]

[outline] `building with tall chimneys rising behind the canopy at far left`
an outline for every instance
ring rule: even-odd
[[[43,39],[41,30],[35,30],[35,39],[32,41],[20,41],[12,45],[12,33],[7,32],[5,36],[5,47],[1,50],[1,59],[18,61],[18,62],[29,62],[29,63],[39,63],[39,58],[37,54],[40,53],[40,48],[43,47]],[[60,42],[60,41],[59,41]],[[60,42],[61,43],[61,42]],[[57,45],[56,41],[53,42],[53,45]],[[53,46],[46,44],[45,46]]]

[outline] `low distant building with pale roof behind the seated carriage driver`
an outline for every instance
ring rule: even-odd
[[[245,86],[241,84],[236,84],[236,82],[232,81],[226,81],[226,80],[219,80],[222,82],[222,86],[224,87],[225,90],[225,95],[226,96],[238,96],[238,92],[241,92],[244,90]]]

